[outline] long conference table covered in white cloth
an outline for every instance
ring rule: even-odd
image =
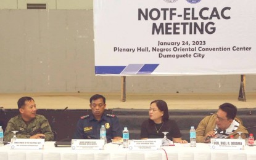
[[[45,142],[43,150],[12,150],[10,145],[0,146],[0,160],[75,160],[75,159],[130,159],[130,160],[251,160],[256,159],[256,146],[245,150],[211,150],[209,143],[197,143],[196,147],[175,143],[161,150],[128,150],[122,145],[108,143],[104,150],[72,150],[71,147],[55,147],[55,142]]]

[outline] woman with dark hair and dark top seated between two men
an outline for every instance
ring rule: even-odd
[[[176,122],[169,119],[167,103],[154,100],[149,108],[149,119],[141,125],[141,139],[163,138],[162,132],[168,132],[167,138],[174,143],[188,143],[181,140],[181,132]]]

